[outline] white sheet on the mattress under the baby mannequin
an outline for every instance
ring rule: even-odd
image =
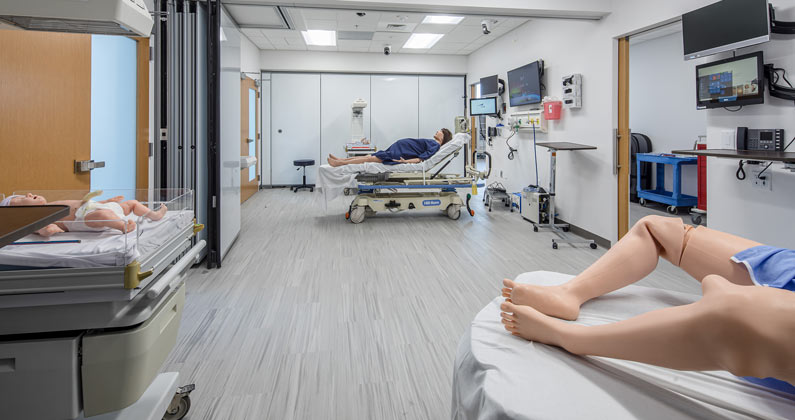
[[[65,232],[51,240],[79,239],[80,243],[46,245],[8,245],[0,248],[0,265],[25,267],[95,268],[123,267],[147,256],[168,239],[193,222],[192,211],[168,211],[159,221],[131,218],[137,224],[130,233],[116,230],[104,232]],[[136,237],[138,240],[136,241]],[[20,242],[46,238],[28,235]],[[126,241],[125,241],[126,240]]]

